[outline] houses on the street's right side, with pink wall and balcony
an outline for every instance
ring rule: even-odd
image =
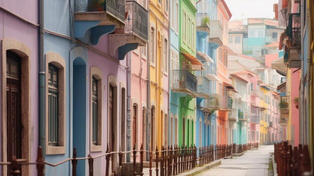
[[[288,144],[308,145],[313,159],[313,2],[280,0],[274,5],[279,25],[279,50],[283,56],[271,63],[272,68],[285,74],[278,85],[281,95],[281,124]],[[313,170],[313,163],[311,163]]]

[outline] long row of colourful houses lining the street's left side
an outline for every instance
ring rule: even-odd
[[[38,146],[56,163],[74,147],[86,157],[134,144],[155,150],[284,139],[274,121],[278,95],[250,70],[229,74],[228,56],[236,54],[224,0],[4,1],[0,16],[4,162],[35,161]],[[110,158],[112,174],[117,160]],[[103,165],[104,157],[94,160],[94,174],[103,175]],[[78,175],[87,168],[78,161]],[[36,174],[35,165],[21,169]],[[0,167],[3,175],[10,170]],[[46,175],[70,170],[45,168]]]

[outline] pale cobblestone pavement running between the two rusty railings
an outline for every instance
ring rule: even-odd
[[[223,159],[219,166],[209,169],[199,175],[267,176],[271,152],[274,152],[273,145],[259,146],[258,150],[248,150],[242,156],[235,156],[233,159]]]

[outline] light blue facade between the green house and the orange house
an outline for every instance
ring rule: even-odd
[[[206,76],[207,74],[216,73],[217,59],[216,49],[218,44],[208,42],[208,33],[200,28],[198,25],[203,22],[205,16],[211,20],[216,20],[217,4],[214,0],[201,1],[196,6],[197,13],[197,33],[196,33],[196,50],[200,53],[205,53],[213,62],[204,60],[199,54],[197,58],[203,63],[205,70],[196,71],[197,76]],[[210,22],[209,22],[210,23]],[[209,31],[210,32],[210,31]],[[216,93],[215,81],[210,80],[209,94]],[[204,85],[199,85],[199,89]],[[216,144],[216,113],[215,111],[206,112],[203,110],[206,99],[198,97],[197,102],[197,120],[196,120],[196,146],[203,147],[211,144]]]

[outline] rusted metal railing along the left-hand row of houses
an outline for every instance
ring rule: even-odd
[[[98,156],[91,156],[88,154],[87,157],[77,157],[76,148],[73,148],[72,157],[67,158],[58,163],[50,163],[44,160],[42,155],[42,148],[38,147],[38,156],[36,162],[28,162],[26,159],[16,158],[15,156],[12,158],[12,162],[0,162],[0,165],[11,165],[10,173],[11,175],[18,176],[21,175],[21,170],[19,170],[20,165],[36,165],[38,176],[42,176],[44,173],[45,165],[50,165],[52,167],[56,167],[60,164],[71,162],[72,164],[72,175],[76,176],[77,173],[77,163],[79,160],[87,160],[88,161],[88,174],[90,176],[94,173],[94,159],[105,157],[105,175],[109,174],[109,164],[110,158],[114,155],[118,156],[118,170],[115,172],[115,175],[141,175],[143,176],[143,155],[144,152],[149,154],[149,175],[177,175],[178,173],[185,172],[187,170],[191,170],[195,168],[197,165],[202,166],[204,164],[208,164],[213,162],[214,160],[218,160],[224,157],[228,157],[233,153],[240,153],[246,151],[248,146],[250,147],[258,147],[258,143],[256,144],[245,144],[245,145],[236,145],[236,144],[218,144],[218,145],[209,145],[197,148],[194,146],[162,146],[161,150],[156,147],[155,151],[151,150],[143,150],[143,144],[140,146],[140,150],[136,150],[136,145],[133,145],[133,149],[131,151],[110,151],[109,145],[107,144],[107,149],[104,154]],[[122,155],[132,153],[132,168],[129,168],[129,173],[122,173]],[[139,153],[139,161],[137,155]],[[153,162],[155,163],[155,168],[152,168]],[[139,163],[139,170],[138,164]]]

